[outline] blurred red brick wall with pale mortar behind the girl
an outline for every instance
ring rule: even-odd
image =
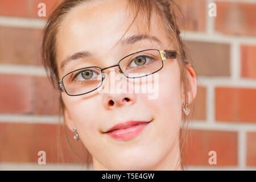
[[[0,169],[61,169],[63,163],[80,169],[87,157],[92,164],[68,131],[77,162],[63,126],[58,127],[59,92],[40,63],[46,20],[38,16],[40,2],[48,15],[57,1],[0,1]],[[208,16],[211,2],[217,5],[216,17]],[[198,82],[188,169],[256,169],[256,1],[179,3],[185,16],[181,25],[186,24],[182,36]],[[57,155],[57,143],[63,155]],[[44,167],[37,164],[40,150],[47,154]],[[217,165],[208,163],[209,151],[216,151]]]

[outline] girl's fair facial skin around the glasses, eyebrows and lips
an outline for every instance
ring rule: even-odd
[[[147,34],[155,36],[160,42],[142,39],[114,46],[133,20],[131,14],[126,14],[125,7],[126,1],[97,1],[97,4],[76,6],[65,15],[56,39],[60,78],[79,68],[109,67],[117,64],[122,57],[144,49],[174,49],[155,15],[151,20],[151,32],[147,31],[145,19],[139,16],[123,39]],[[91,55],[73,57],[63,69],[60,68],[63,60],[81,51],[88,51]],[[76,127],[82,143],[93,156],[94,169],[174,168],[179,158],[184,97],[177,60],[167,59],[163,63],[163,68],[152,75],[152,82],[158,82],[155,99],[148,99],[152,93],[125,93],[124,88],[122,93],[99,93],[94,90],[81,96],[68,96],[62,92],[67,125],[72,131]],[[121,74],[119,80],[111,80],[110,73],[118,75],[118,67],[105,69],[104,72],[106,78],[102,89],[113,81],[115,86],[118,82],[136,84],[130,83],[130,79]],[[145,86],[146,83],[141,84]],[[113,138],[104,133],[126,121],[151,122],[131,138]]]

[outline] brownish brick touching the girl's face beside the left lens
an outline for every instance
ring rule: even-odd
[[[59,96],[47,77],[35,77],[35,114],[57,114]]]

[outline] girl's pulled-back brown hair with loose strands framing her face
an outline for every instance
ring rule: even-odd
[[[52,12],[51,16],[49,16],[46,24],[46,28],[44,29],[43,43],[42,43],[42,56],[43,56],[43,65],[46,69],[48,77],[51,79],[53,86],[58,89],[57,81],[60,80],[57,64],[56,64],[56,34],[58,28],[60,26],[61,21],[65,14],[69,12],[73,7],[80,5],[84,2],[89,2],[92,0],[65,0],[60,3],[59,6]],[[170,44],[173,44],[175,50],[177,51],[177,62],[179,63],[179,68],[181,72],[181,85],[184,89],[185,102],[188,102],[188,91],[191,90],[191,85],[188,81],[187,69],[186,65],[192,64],[187,60],[187,56],[185,54],[185,46],[183,41],[180,38],[180,29],[177,24],[176,12],[180,11],[179,6],[176,5],[174,0],[127,0],[127,7],[130,8],[131,13],[134,13],[134,19],[131,24],[134,23],[138,14],[146,15],[146,22],[148,31],[150,31],[150,22],[152,12],[156,12],[156,15],[162,19],[162,23],[164,24],[164,30],[167,32],[168,40],[170,40]],[[182,14],[182,13],[181,13]],[[130,24],[130,26],[131,26]],[[130,28],[129,26],[129,28]],[[126,32],[129,30],[126,30]],[[126,34],[125,32],[125,34]],[[123,34],[123,36],[125,35]],[[121,38],[120,38],[121,40]],[[64,113],[64,103],[60,96],[60,110],[59,116],[61,117]],[[189,105],[189,109],[193,111],[193,105]],[[182,112],[183,113],[183,112]],[[179,144],[180,144],[180,153],[181,160],[178,161],[181,164],[181,168],[184,167],[185,161],[185,152],[184,146],[187,143],[188,137],[188,116],[182,114],[182,127],[180,130],[179,136]],[[64,121],[65,122],[65,121]],[[65,126],[65,124],[64,124]],[[65,127],[65,131],[67,131],[67,127]],[[183,168],[184,169],[184,168]]]

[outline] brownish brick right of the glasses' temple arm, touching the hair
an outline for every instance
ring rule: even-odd
[[[185,45],[197,75],[230,76],[229,44],[186,41]]]

